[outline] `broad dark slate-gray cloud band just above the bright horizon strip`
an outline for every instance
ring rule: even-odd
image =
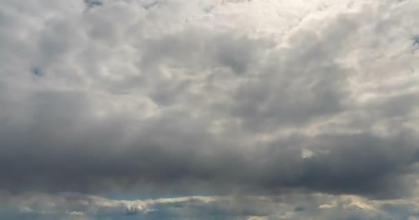
[[[391,197],[409,189],[399,181],[418,159],[418,140],[409,132],[298,136],[240,149],[225,147],[227,142],[181,114],[147,124],[127,142],[123,133],[132,122],[123,117],[86,121],[88,104],[79,94],[32,99],[39,99],[39,106],[31,126],[2,129],[3,188],[100,192],[144,183],[183,192],[195,185],[216,192],[307,188]],[[303,158],[303,148],[320,153]]]

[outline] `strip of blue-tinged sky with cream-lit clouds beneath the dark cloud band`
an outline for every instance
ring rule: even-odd
[[[192,196],[143,200],[80,193],[0,194],[8,219],[376,219],[416,220],[418,199],[369,200],[351,195]]]

